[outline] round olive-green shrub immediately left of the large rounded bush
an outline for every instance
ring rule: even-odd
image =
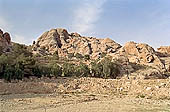
[[[90,74],[90,70],[86,64],[80,63],[75,67],[75,75],[77,77],[87,77]]]

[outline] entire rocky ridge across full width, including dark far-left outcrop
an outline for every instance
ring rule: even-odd
[[[143,74],[156,75],[170,72],[170,50],[169,47],[160,47],[155,51],[151,46],[144,43],[127,42],[121,46],[109,38],[85,37],[78,33],[68,33],[66,29],[51,29],[43,33],[32,46],[13,44],[9,33],[0,30],[1,51],[15,51],[28,56],[30,50],[37,56],[53,56],[54,54],[66,59],[74,59],[71,63],[79,64],[80,61],[90,65],[96,59],[102,61],[104,57],[111,57],[112,62],[120,65],[121,74],[132,73],[142,70],[147,66]],[[21,50],[22,49],[22,50]],[[27,51],[27,52],[26,52]],[[85,57],[88,57],[85,58]],[[79,58],[79,60],[77,60]],[[49,60],[44,58],[37,60],[48,64]],[[69,61],[69,60],[68,60]],[[138,66],[140,65],[140,66]],[[140,71],[140,74],[143,71]]]

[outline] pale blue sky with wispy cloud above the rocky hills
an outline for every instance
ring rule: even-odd
[[[170,46],[170,0],[0,0],[0,29],[14,42],[32,44],[52,28]]]

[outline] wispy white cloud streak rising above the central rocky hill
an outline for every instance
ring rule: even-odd
[[[103,5],[107,0],[84,0],[74,12],[72,31],[87,33],[93,30],[101,16]]]

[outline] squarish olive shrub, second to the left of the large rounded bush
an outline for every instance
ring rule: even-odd
[[[70,76],[75,76],[75,65],[71,63],[64,63],[62,65],[62,76],[64,77],[70,77]]]

